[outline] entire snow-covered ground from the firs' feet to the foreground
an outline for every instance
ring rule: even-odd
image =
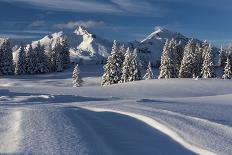
[[[155,79],[100,87],[101,69],[82,67],[81,88],[72,88],[71,70],[0,79],[0,154],[232,152],[231,80]]]

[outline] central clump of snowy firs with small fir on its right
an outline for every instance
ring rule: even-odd
[[[119,43],[114,41],[111,55],[104,66],[101,85],[106,86],[141,80],[141,70],[142,65],[137,56],[137,49],[125,48],[124,45],[120,46]],[[151,63],[148,65],[144,78],[153,78]]]

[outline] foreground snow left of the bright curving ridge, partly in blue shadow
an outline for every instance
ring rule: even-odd
[[[0,154],[193,154],[142,122],[114,113],[51,104],[1,109]]]

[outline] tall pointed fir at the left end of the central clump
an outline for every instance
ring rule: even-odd
[[[104,74],[102,76],[103,86],[119,83],[122,76],[123,59],[124,56],[121,53],[119,45],[114,41],[111,55],[104,66]]]

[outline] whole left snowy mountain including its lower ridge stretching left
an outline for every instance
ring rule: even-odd
[[[33,41],[35,46],[39,41],[42,45],[48,47],[49,44],[54,44],[59,40],[67,38],[70,45],[71,60],[87,64],[100,64],[106,61],[112,48],[112,42],[103,39],[89,31],[86,28],[79,26],[74,32],[57,32],[47,35],[44,38]]]

